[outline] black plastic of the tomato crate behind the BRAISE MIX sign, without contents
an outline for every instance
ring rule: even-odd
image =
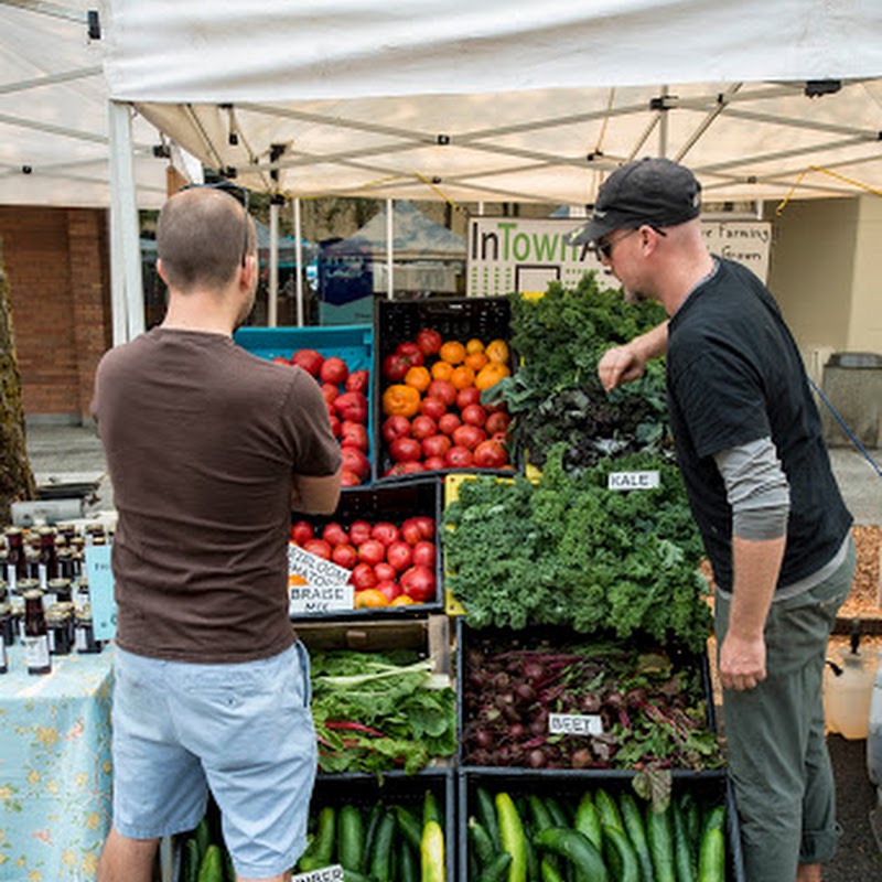
[[[408,616],[420,615],[427,612],[437,612],[444,606],[443,593],[443,571],[441,563],[441,546],[438,534],[441,527],[442,517],[442,487],[440,483],[431,477],[420,477],[407,483],[389,484],[386,486],[373,487],[348,487],[341,492],[340,503],[333,515],[293,515],[292,520],[306,520],[315,530],[316,535],[327,524],[340,523],[344,528],[354,520],[369,520],[372,524],[379,520],[388,520],[396,526],[415,515],[428,515],[434,518],[435,536],[432,541],[435,544],[435,593],[431,601],[418,603],[409,606],[378,606],[370,609],[353,609],[348,611],[316,612],[292,616],[293,622],[304,619],[363,619],[386,617],[386,616]]]

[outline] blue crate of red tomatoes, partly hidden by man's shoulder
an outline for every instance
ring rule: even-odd
[[[343,452],[343,485],[370,483],[374,329],[368,325],[240,327],[234,340],[252,355],[281,365],[297,365],[315,378],[327,405],[331,429]]]

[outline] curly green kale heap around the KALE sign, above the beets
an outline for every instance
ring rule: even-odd
[[[460,484],[444,513],[447,584],[473,627],[568,624],[643,632],[703,650],[710,612],[702,548],[679,471],[635,454],[567,471],[549,452],[538,485],[523,476]],[[656,469],[656,491],[612,492],[610,471]]]

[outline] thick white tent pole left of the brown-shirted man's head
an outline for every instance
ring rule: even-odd
[[[110,304],[114,345],[144,330],[138,203],[129,105],[108,101],[110,142]]]

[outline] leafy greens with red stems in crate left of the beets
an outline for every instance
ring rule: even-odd
[[[418,772],[456,750],[455,693],[416,653],[338,649],[312,658],[323,772]]]

